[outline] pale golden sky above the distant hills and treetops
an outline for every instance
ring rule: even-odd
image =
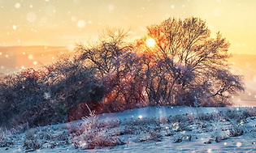
[[[94,39],[107,26],[145,36],[164,19],[206,19],[230,53],[256,54],[255,0],[0,0],[0,46],[68,46]]]

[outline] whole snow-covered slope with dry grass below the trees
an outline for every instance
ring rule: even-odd
[[[21,134],[2,132],[0,152],[32,151],[32,144],[39,144],[36,152],[256,152],[255,116],[256,108],[136,108]],[[87,132],[74,136],[80,129]],[[88,134],[119,145],[83,150]]]

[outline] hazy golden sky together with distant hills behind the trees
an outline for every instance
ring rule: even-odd
[[[231,43],[228,62],[246,85],[236,104],[256,106],[255,6],[254,0],[0,0],[0,75],[54,62],[106,26],[130,29],[134,39],[169,17],[197,16],[213,37],[221,32]]]

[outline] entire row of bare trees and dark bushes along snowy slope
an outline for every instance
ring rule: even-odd
[[[153,39],[154,45],[147,40]],[[170,18],[129,41],[121,28],[106,28],[94,42],[76,43],[40,70],[0,80],[0,125],[48,125],[98,113],[156,105],[224,107],[244,90],[227,64],[229,43],[210,37],[200,18]]]

